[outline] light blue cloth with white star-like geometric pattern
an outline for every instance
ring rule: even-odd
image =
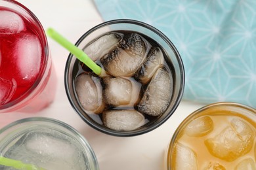
[[[104,20],[130,18],[160,29],[184,62],[183,99],[256,108],[255,0],[95,0]]]

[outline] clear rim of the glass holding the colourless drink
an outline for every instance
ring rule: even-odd
[[[32,124],[28,124],[28,123],[32,123]],[[91,147],[91,144],[89,144],[89,142],[87,141],[87,139],[85,139],[85,137],[83,137],[83,135],[81,135],[74,127],[72,127],[60,120],[56,120],[54,118],[30,117],[30,118],[23,118],[20,120],[16,120],[16,121],[12,122],[11,124],[8,124],[7,126],[0,129],[0,143],[3,143],[3,141],[4,142],[7,141],[7,139],[13,137],[13,135],[15,135],[16,133],[24,133],[24,132],[30,130],[30,128],[33,127],[34,125],[40,126],[41,125],[40,123],[42,123],[42,124],[49,123],[49,124],[44,124],[43,126],[46,126],[46,127],[54,126],[53,127],[54,130],[56,130],[64,135],[68,135],[69,137],[74,139],[84,149],[84,151],[87,153],[87,156],[90,157],[90,158],[88,158],[90,161],[90,165],[93,164],[93,167],[95,167],[95,169],[99,169],[95,152],[94,152],[93,148]],[[16,129],[16,126],[20,126],[20,125],[24,128]],[[65,130],[67,130],[68,134],[64,133],[60,128],[64,128]],[[9,134],[3,134],[5,132],[8,132],[9,130],[11,130],[9,132]],[[13,133],[13,132],[15,134],[10,135],[10,133]],[[5,148],[2,148],[2,149],[5,149]],[[0,151],[0,153],[1,153],[1,151]]]

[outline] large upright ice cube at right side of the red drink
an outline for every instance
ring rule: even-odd
[[[22,35],[16,42],[16,64],[22,80],[33,82],[40,71],[42,49],[35,35]]]

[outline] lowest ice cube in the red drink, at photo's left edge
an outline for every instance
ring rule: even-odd
[[[13,78],[12,81],[9,81],[0,77],[0,105],[7,103],[12,98],[16,88],[17,84]]]

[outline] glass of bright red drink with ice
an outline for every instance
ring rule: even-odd
[[[0,113],[37,112],[53,101],[55,91],[41,23],[24,5],[0,1]]]

